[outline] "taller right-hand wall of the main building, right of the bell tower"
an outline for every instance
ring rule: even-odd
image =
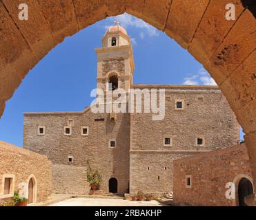
[[[239,124],[217,87],[133,87],[166,89],[166,109],[159,121],[151,113],[130,115],[130,192],[171,192],[174,159],[237,144]],[[175,100],[184,100],[184,110],[175,110]],[[164,146],[164,137],[172,146]],[[204,146],[196,145],[197,137]]]

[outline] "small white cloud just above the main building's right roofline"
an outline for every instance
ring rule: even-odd
[[[217,85],[217,83],[210,77],[206,69],[201,68],[197,74],[184,78],[183,85]]]

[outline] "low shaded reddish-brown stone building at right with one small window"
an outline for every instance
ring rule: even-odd
[[[238,206],[238,184],[242,178],[253,184],[245,144],[174,161],[174,202],[193,206]],[[186,187],[190,176],[191,187]],[[235,186],[234,198],[226,198],[227,183]]]

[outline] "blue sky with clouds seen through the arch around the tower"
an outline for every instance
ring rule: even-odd
[[[81,111],[90,105],[97,77],[95,48],[115,20],[132,39],[133,83],[215,85],[204,67],[163,32],[130,14],[110,17],[65,39],[29,72],[6,102],[0,140],[23,146],[23,112]]]

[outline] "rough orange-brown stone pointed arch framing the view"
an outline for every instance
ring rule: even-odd
[[[18,5],[28,3],[20,21]],[[225,19],[235,4],[236,19]],[[175,39],[210,73],[246,133],[256,184],[255,2],[240,0],[1,0],[0,115],[22,79],[66,36],[128,12]]]

